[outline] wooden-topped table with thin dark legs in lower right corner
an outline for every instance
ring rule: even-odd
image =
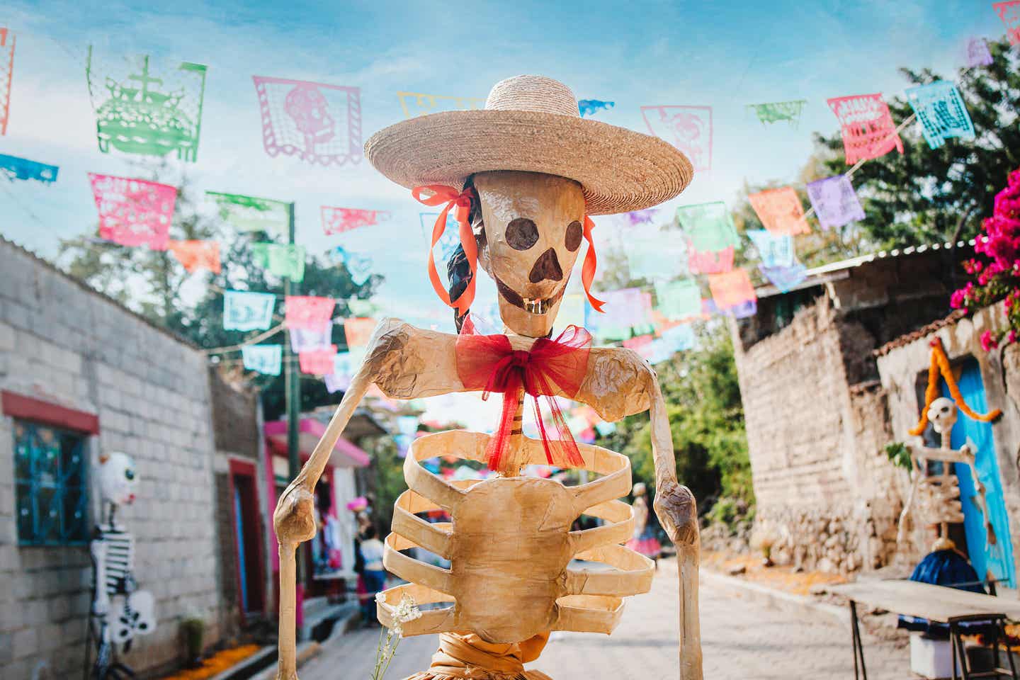
[[[997,635],[1006,639],[1004,619],[1020,619],[1020,600],[992,597],[991,595],[959,590],[941,585],[918,583],[917,581],[861,581],[835,585],[828,588],[829,592],[843,595],[850,600],[851,635],[854,645],[854,678],[868,678],[864,668],[864,646],[861,643],[861,631],[857,619],[857,605],[865,605],[882,609],[904,616],[918,617],[945,623],[950,627],[950,645],[953,648],[953,680],[958,679],[957,659],[964,680],[971,678],[1012,677],[1017,680],[1017,671],[1013,664],[1013,655],[1006,652],[1010,661],[1010,670],[999,668],[999,638],[993,641],[994,669],[971,673],[964,652],[963,640],[960,637],[960,624],[965,621],[987,621],[991,623]],[[860,666],[860,675],[858,674]]]

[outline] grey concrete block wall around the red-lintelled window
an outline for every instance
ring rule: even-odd
[[[178,621],[194,613],[218,636],[213,439],[206,358],[114,302],[0,239],[0,389],[99,418],[89,441],[133,456],[138,501],[119,513],[136,538],[136,575],[156,597],[158,627],[124,661],[178,660]],[[22,547],[14,521],[12,418],[0,417],[0,677],[46,664],[78,677],[90,605],[88,548]],[[92,494],[99,519],[98,490]]]

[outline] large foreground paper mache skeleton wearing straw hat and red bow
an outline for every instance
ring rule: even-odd
[[[378,618],[405,636],[438,633],[428,679],[548,679],[523,664],[542,652],[551,631],[610,633],[625,595],[651,587],[654,565],[621,545],[631,537],[633,510],[618,499],[630,490],[626,457],[577,443],[555,397],[590,405],[607,421],[650,411],[656,469],[654,508],[676,544],[679,572],[680,677],[700,680],[699,535],[695,499],[676,479],[669,422],[655,372],[628,349],[593,348],[583,328],[558,334],[553,325],[582,240],[581,281],[591,304],[596,256],[589,215],[646,209],[690,184],[688,160],[647,135],[578,115],[564,85],[520,75],[497,84],[483,110],[448,111],[402,121],[368,141],[365,155],[387,177],[426,205],[445,205],[432,245],[455,210],[461,248],[448,263],[450,289],[428,257],[437,295],[456,309],[458,334],[385,319],[369,344],[325,434],[276,506],[279,540],[279,667],[295,666],[295,550],[315,534],[314,487],[329,451],[368,387],[393,399],[449,393],[502,393],[494,434],[464,430],[422,436],[404,464],[408,490],[394,509],[386,539],[387,570],[408,581],[380,593]],[[496,281],[506,334],[479,334],[468,314],[477,264]],[[611,312],[612,310],[610,310]],[[553,425],[545,425],[543,407]],[[540,438],[522,432],[525,403]],[[556,435],[549,432],[556,429]],[[420,462],[436,456],[484,461],[497,475],[446,480]],[[565,486],[521,476],[530,464],[595,473]],[[442,509],[452,521],[429,524],[419,513]],[[581,514],[601,518],[571,531]],[[420,546],[449,569],[402,553]],[[571,566],[600,562],[592,570]],[[395,622],[401,601],[430,605],[412,621]],[[440,605],[443,606],[440,606]]]

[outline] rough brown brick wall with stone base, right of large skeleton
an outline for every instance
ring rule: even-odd
[[[756,522],[772,558],[830,572],[881,566],[900,502],[882,451],[884,396],[852,384],[845,360],[873,339],[827,296],[750,347],[733,331]]]

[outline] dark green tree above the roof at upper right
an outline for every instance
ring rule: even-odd
[[[978,233],[992,197],[1020,166],[1020,53],[1006,39],[988,47],[988,66],[960,69],[955,79],[974,123],[975,140],[948,140],[930,149],[917,124],[905,127],[904,153],[891,151],[864,163],[853,177],[864,206],[863,236],[878,247],[956,242]],[[929,69],[902,68],[911,85],[940,79]],[[903,97],[889,102],[895,121],[913,113]],[[816,135],[816,156],[828,174],[848,167],[838,133]]]

